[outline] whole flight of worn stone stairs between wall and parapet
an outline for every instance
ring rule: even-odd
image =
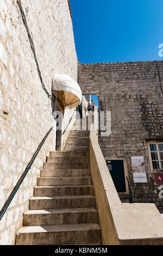
[[[80,124],[77,121],[76,127]],[[16,245],[101,245],[90,173],[89,131],[71,131],[43,164]]]

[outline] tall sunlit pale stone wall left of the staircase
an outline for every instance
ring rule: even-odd
[[[77,56],[67,0],[22,0],[43,83],[55,73],[77,81]],[[52,102],[42,88],[16,0],[0,4],[0,209],[50,127],[39,155],[0,221],[0,245],[12,245],[49,150],[55,149]],[[73,113],[74,109],[71,109]],[[70,115],[71,115],[70,113]],[[67,120],[64,119],[64,125]]]

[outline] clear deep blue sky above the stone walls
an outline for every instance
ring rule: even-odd
[[[163,60],[162,0],[70,0],[81,63]]]

